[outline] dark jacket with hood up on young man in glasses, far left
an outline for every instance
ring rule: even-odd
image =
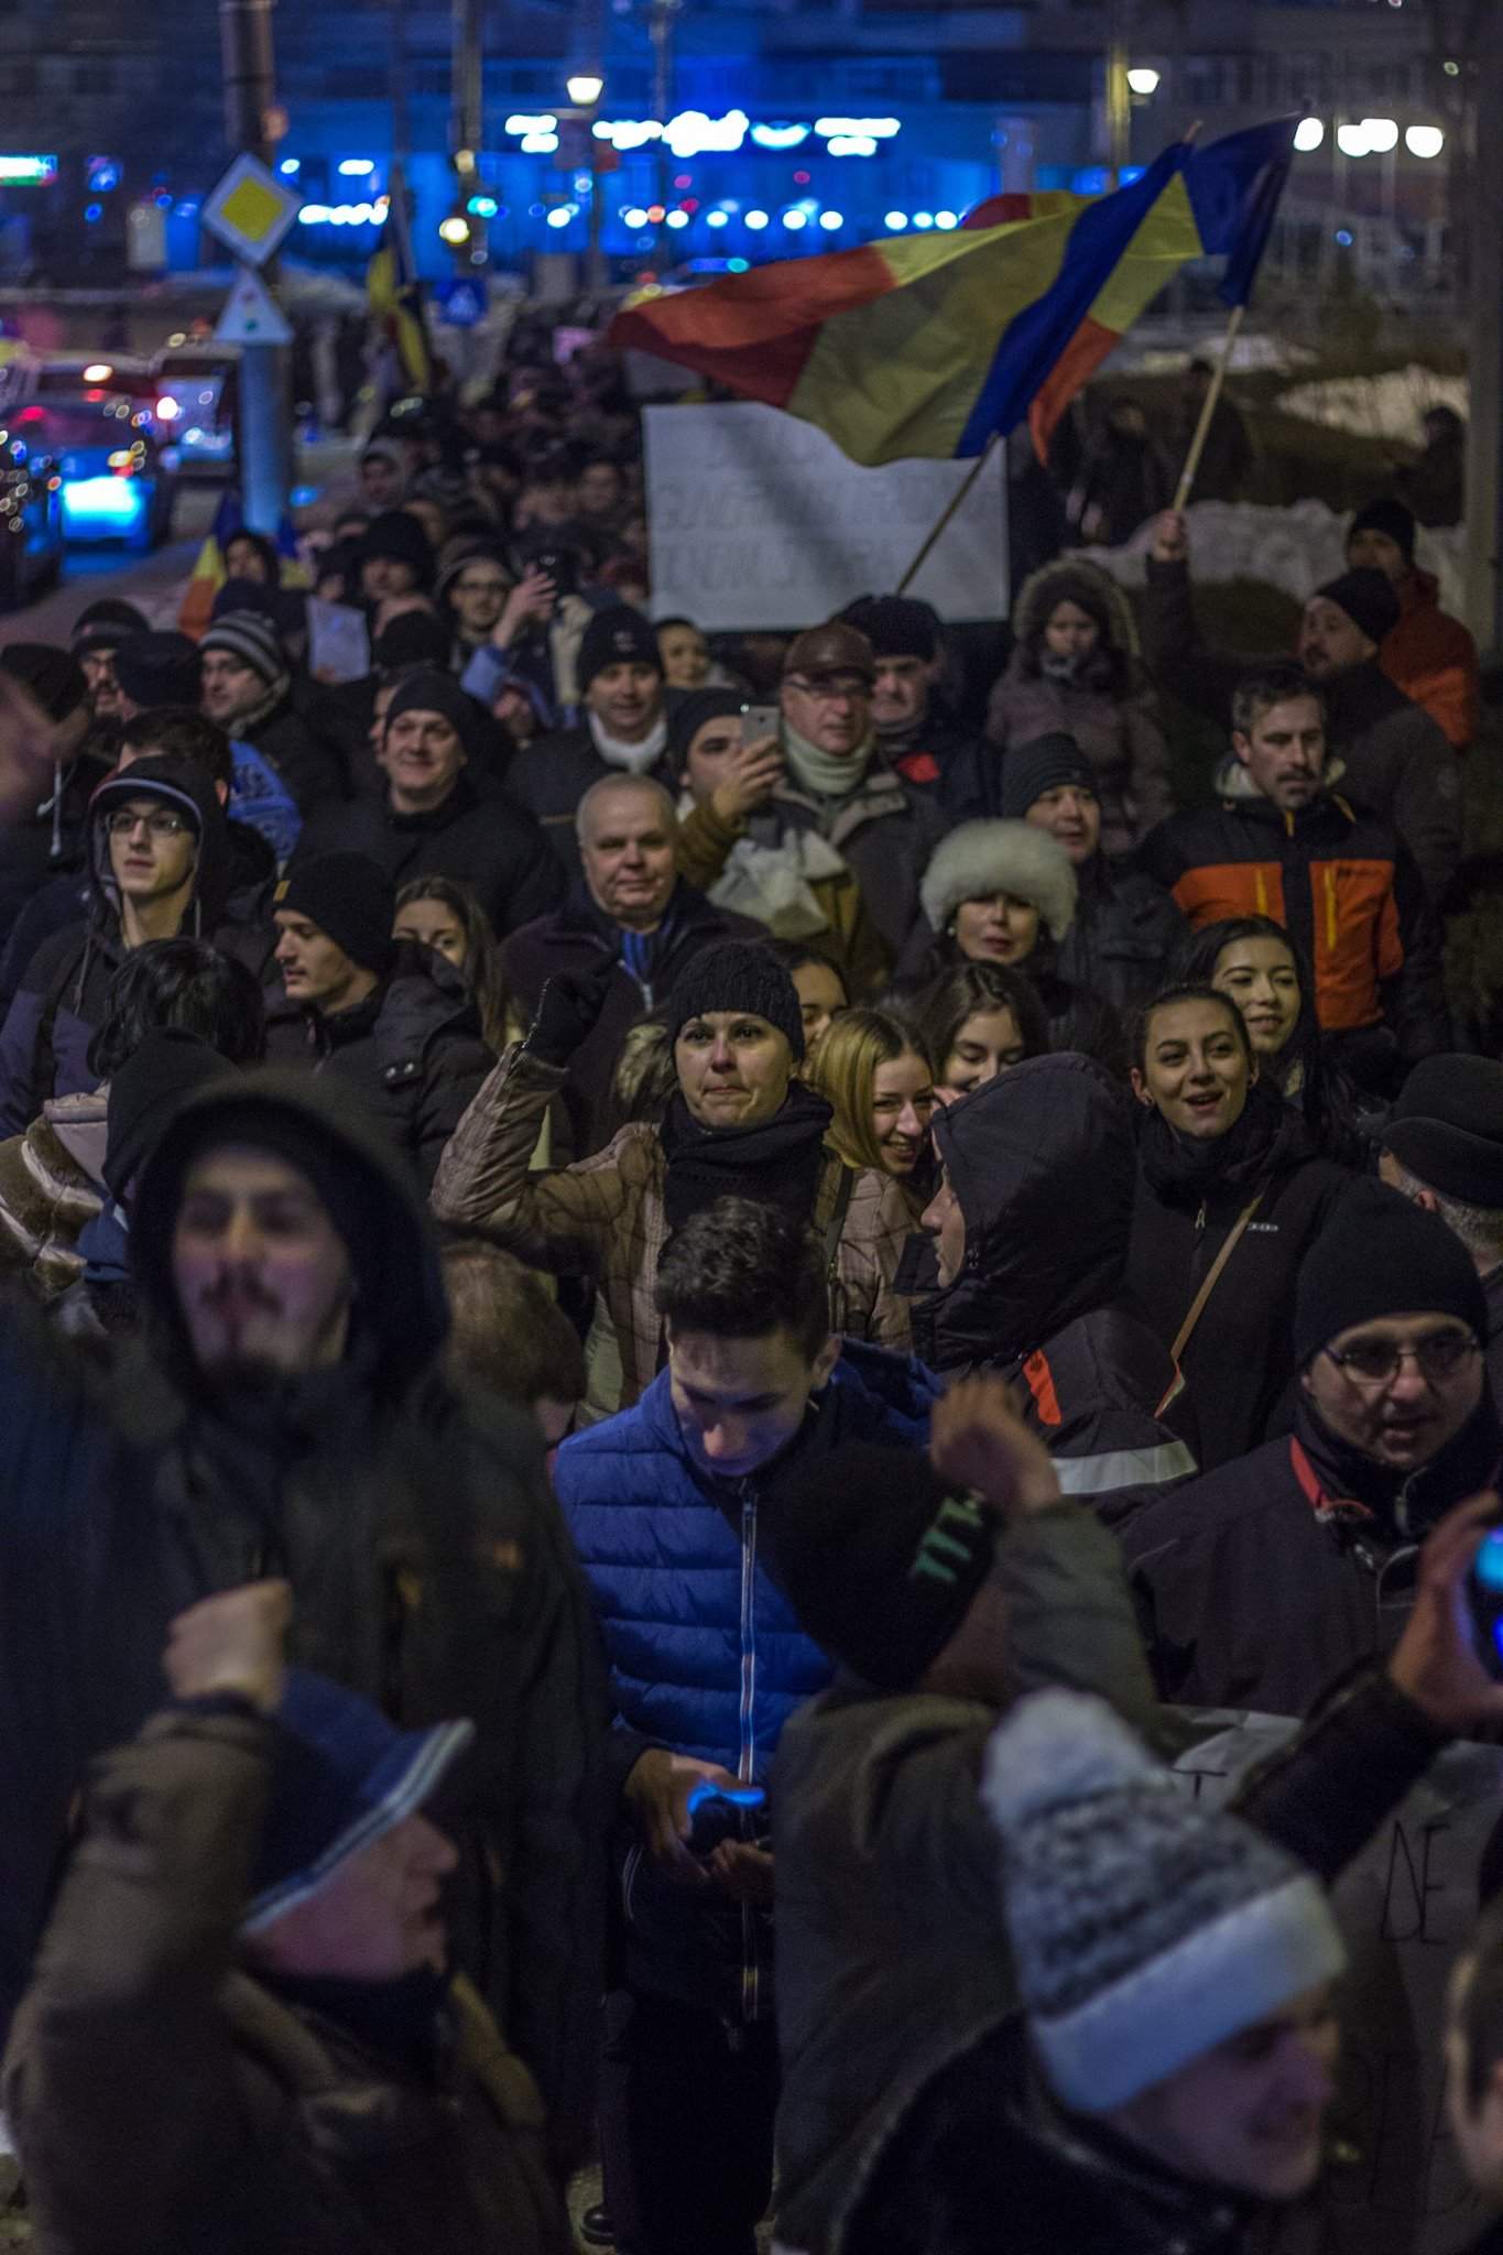
[[[126,776],[106,780],[110,796],[119,789],[128,798],[158,798],[187,816],[198,834],[198,859],[180,929],[261,972],[277,936],[259,918],[241,922],[234,916],[230,823],[210,778],[185,760],[135,760]],[[88,916],[43,940],[0,1028],[0,1134],[23,1134],[50,1096],[77,1096],[95,1087],[88,1044],[104,1022],[110,981],[126,958],[119,886],[104,823],[108,807],[101,810],[97,801],[99,794],[90,805],[88,828]],[[259,909],[259,895],[255,904]]]

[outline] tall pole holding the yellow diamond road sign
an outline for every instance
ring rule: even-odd
[[[279,131],[277,65],[270,36],[275,0],[219,0],[219,43],[225,72],[225,135],[273,165]],[[241,266],[255,273],[252,266]],[[261,280],[275,284],[268,262]],[[239,451],[246,521],[275,537],[293,492],[293,354],[288,345],[241,345]]]

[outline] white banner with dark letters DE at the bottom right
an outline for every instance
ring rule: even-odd
[[[1201,1718],[1206,1721],[1206,1718]],[[1181,1754],[1190,1790],[1221,1802],[1296,1723],[1228,1716]],[[1453,1745],[1343,1872],[1334,1903],[1352,1953],[1334,2160],[1316,2210],[1275,2255],[1458,2255],[1487,2223],[1444,2117],[1444,1991],[1476,1926],[1476,1874],[1503,1815],[1503,1748]]]

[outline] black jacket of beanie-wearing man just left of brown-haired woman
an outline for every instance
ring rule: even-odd
[[[291,1003],[273,1010],[268,1055],[311,1064],[356,1089],[412,1166],[424,1193],[433,1188],[444,1146],[471,1096],[496,1064],[480,1037],[464,974],[433,947],[399,943],[392,970],[356,1003],[324,1017]]]

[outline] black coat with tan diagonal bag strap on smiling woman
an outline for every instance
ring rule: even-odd
[[[1206,1470],[1275,1430],[1293,1380],[1300,1263],[1352,1179],[1316,1152],[1305,1121],[1262,1080],[1248,1089],[1248,1116],[1255,1132],[1237,1137],[1239,1121],[1221,1139],[1242,1150],[1235,1179],[1221,1173],[1206,1182],[1158,1173],[1156,1157],[1174,1161],[1179,1139],[1158,1114],[1147,1116],[1127,1249],[1127,1290],[1170,1346],[1237,1215],[1262,1193],[1181,1355]]]

